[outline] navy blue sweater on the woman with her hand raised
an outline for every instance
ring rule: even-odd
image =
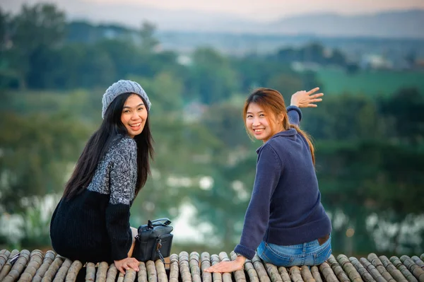
[[[298,125],[300,109],[290,106],[288,114],[290,123]],[[296,129],[281,131],[257,154],[252,198],[235,252],[252,259],[262,240],[298,245],[331,233],[306,139]]]

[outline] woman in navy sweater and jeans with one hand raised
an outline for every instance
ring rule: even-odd
[[[331,254],[331,221],[321,204],[314,169],[314,146],[299,128],[300,107],[317,107],[319,88],[292,95],[285,107],[277,90],[259,88],[245,102],[245,127],[264,144],[257,149],[257,172],[245,215],[237,259],[208,272],[242,269],[257,253],[276,266],[318,265]]]

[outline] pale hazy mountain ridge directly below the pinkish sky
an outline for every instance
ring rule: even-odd
[[[170,11],[131,4],[85,4],[68,11],[70,19],[96,23],[119,23],[138,28],[144,20],[161,31],[196,33],[237,33],[261,35],[316,35],[343,37],[424,38],[424,10],[387,11],[367,15],[342,16],[336,13],[312,13],[257,22],[229,13]]]

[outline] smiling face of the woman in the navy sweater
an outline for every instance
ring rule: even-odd
[[[255,102],[251,102],[246,112],[246,127],[254,138],[268,141],[273,135],[283,131],[282,122],[278,122],[273,113],[265,110]]]

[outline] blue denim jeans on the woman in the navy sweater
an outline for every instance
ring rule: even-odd
[[[319,265],[331,255],[331,235],[329,240],[321,246],[318,240],[291,246],[280,246],[262,241],[257,254],[265,262],[276,266]]]

